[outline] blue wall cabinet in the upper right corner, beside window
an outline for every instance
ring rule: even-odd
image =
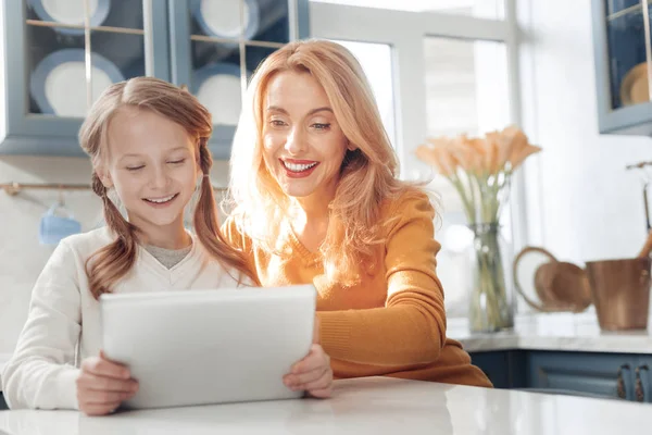
[[[652,135],[652,64],[647,0],[592,0],[600,133]]]

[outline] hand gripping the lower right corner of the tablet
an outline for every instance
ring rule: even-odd
[[[333,370],[330,358],[319,345],[319,319],[315,315],[313,345],[310,352],[301,361],[292,365],[290,373],[283,378],[285,385],[292,390],[305,390],[318,398],[330,397],[333,393]]]

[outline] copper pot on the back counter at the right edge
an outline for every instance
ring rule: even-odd
[[[623,331],[648,327],[650,265],[649,257],[586,263],[600,328]]]

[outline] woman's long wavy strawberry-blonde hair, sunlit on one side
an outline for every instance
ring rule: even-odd
[[[324,88],[335,117],[355,150],[348,150],[330,203],[321,247],[324,272],[331,283],[352,286],[373,271],[376,247],[384,243],[380,208],[386,200],[422,190],[398,179],[398,158],[383,126],[371,87],[358,60],[344,47],[326,40],[290,42],[256,70],[247,92],[230,160],[231,215],[241,232],[268,253],[280,253],[277,240],[289,198],[263,160],[264,104],[276,74],[311,74]],[[288,252],[285,252],[288,254]]]

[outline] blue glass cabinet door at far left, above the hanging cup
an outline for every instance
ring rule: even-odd
[[[165,5],[3,2],[7,119],[0,153],[83,156],[79,126],[108,86],[140,75],[170,79]]]

